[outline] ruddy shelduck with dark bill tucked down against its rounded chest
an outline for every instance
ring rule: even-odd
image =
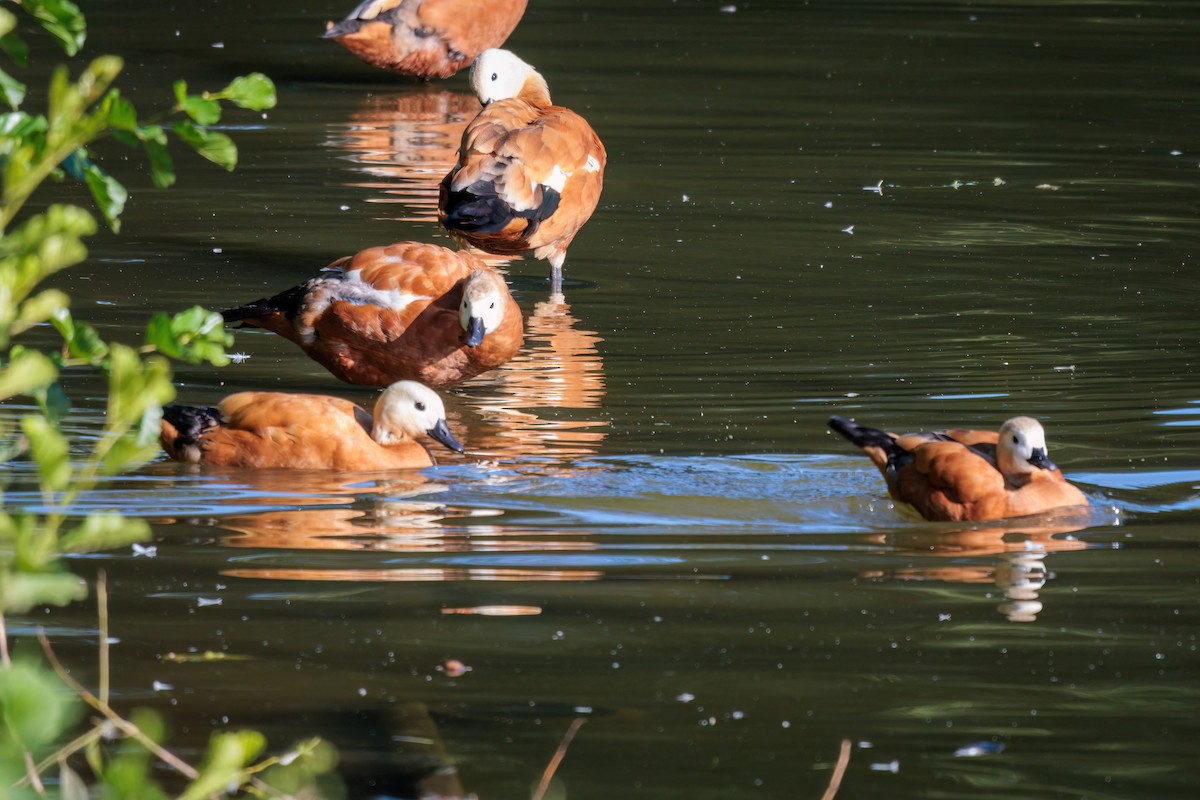
[[[470,253],[421,242],[370,247],[221,313],[295,342],[337,378],[366,386],[462,383],[511,359],[524,337],[498,272]]]

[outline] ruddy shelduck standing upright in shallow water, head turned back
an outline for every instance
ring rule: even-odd
[[[604,145],[582,116],[552,106],[545,78],[508,50],[484,50],[470,85],[484,109],[442,181],[438,219],[488,253],[547,259],[558,294],[566,247],[600,200]]]

